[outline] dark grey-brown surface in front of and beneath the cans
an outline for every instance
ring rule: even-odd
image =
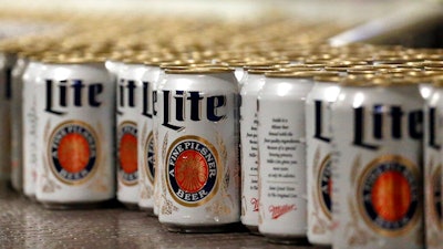
[[[120,206],[93,210],[48,210],[11,191],[0,193],[0,248],[296,248],[261,236],[173,234],[155,217]]]

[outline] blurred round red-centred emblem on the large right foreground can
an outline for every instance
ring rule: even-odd
[[[398,236],[419,218],[420,180],[416,166],[396,155],[372,160],[359,180],[359,207],[368,225]]]

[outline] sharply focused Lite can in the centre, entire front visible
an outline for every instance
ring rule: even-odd
[[[225,231],[240,218],[234,70],[166,70],[162,84],[158,219],[172,231]]]

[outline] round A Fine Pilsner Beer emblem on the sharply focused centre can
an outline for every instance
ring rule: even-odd
[[[166,181],[169,194],[181,205],[200,206],[218,189],[218,154],[198,136],[176,139],[166,157]]]

